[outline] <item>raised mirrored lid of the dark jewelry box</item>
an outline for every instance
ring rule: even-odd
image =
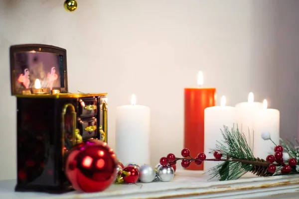
[[[66,50],[48,45],[10,47],[11,94],[67,92]]]

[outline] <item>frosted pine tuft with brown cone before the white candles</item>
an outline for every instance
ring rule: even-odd
[[[219,181],[236,180],[247,172],[252,172],[257,176],[273,175],[273,173],[268,172],[270,163],[254,157],[250,136],[247,142],[245,135],[239,132],[238,127],[237,129],[233,127],[230,131],[227,126],[224,126],[221,133],[224,140],[222,142],[217,141],[218,144],[214,151],[222,151],[226,159],[221,159],[224,162],[208,172],[212,178],[218,178]]]

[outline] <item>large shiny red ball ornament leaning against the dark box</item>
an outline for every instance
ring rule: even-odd
[[[107,143],[89,140],[69,151],[65,174],[75,190],[101,192],[114,182],[117,166],[116,155]]]

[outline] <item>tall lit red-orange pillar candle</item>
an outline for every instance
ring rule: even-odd
[[[215,88],[200,88],[203,84],[202,72],[198,73],[199,88],[184,89],[184,148],[190,150],[190,156],[195,158],[204,152],[204,109],[215,106]],[[216,139],[216,138],[215,138]],[[198,166],[194,162],[188,170],[203,170],[203,163]]]

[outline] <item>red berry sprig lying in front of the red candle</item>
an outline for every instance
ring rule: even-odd
[[[207,160],[206,155],[204,153],[199,153],[195,158],[192,158],[190,156],[190,150],[186,149],[186,148],[181,151],[181,155],[183,156],[183,158],[176,158],[174,156],[174,154],[169,153],[167,155],[167,157],[162,157],[160,159],[160,164],[162,166],[171,165],[173,167],[173,166],[175,166],[177,160],[181,160],[182,167],[187,168],[187,167],[189,167],[189,165],[192,161],[194,161],[194,163],[196,165],[201,165],[202,161]],[[221,160],[222,152],[219,151],[219,150],[215,151],[214,152],[214,157],[215,157],[215,159],[208,159],[208,160],[210,160],[210,161],[219,161],[219,160]]]

